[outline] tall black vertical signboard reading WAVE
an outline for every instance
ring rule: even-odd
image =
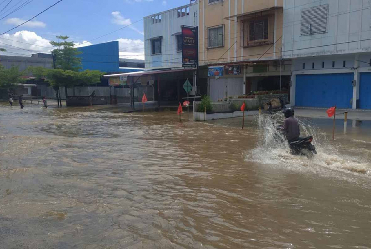
[[[198,65],[198,27],[182,26],[183,67]]]

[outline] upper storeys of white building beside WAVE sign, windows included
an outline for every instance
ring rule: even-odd
[[[198,26],[198,1],[144,17],[145,69],[183,66],[182,25]]]

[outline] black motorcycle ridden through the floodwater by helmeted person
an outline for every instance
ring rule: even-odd
[[[283,125],[279,125],[276,130],[283,130]],[[281,138],[282,140],[282,138]],[[299,137],[296,140],[289,142],[289,147],[292,155],[303,155],[307,157],[313,157],[317,154],[316,147],[312,145],[313,136]],[[283,141],[282,141],[283,142]]]

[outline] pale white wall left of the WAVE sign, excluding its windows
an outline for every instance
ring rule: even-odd
[[[189,15],[177,17],[177,10],[190,8]],[[152,16],[161,14],[161,22],[153,23]],[[182,53],[177,52],[175,34],[181,33],[181,26],[198,26],[198,1],[162,13],[144,17],[144,53],[146,69],[182,67]],[[162,36],[162,54],[151,55],[150,39]]]

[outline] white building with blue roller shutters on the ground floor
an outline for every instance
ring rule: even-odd
[[[371,3],[285,0],[283,59],[294,106],[371,109]]]

